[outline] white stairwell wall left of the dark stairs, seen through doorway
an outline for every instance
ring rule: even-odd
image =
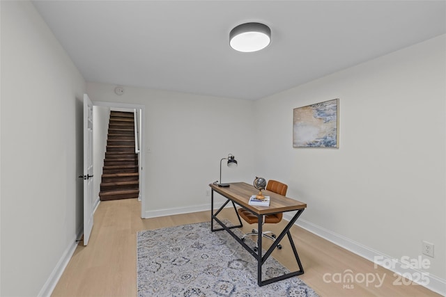
[[[107,150],[109,119],[109,107],[93,106],[93,195],[96,200],[99,199],[102,168]]]

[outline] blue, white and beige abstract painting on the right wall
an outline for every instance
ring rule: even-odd
[[[339,147],[339,99],[293,110],[293,147]]]

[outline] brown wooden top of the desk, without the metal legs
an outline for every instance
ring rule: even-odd
[[[233,182],[228,187],[217,186],[217,184],[210,184],[211,188],[217,193],[220,193],[226,198],[229,198],[237,204],[243,205],[247,209],[254,211],[256,214],[276,214],[285,211],[294,211],[298,209],[305,209],[306,203],[294,200],[277,193],[262,190],[263,195],[270,196],[270,206],[261,207],[256,205],[249,205],[249,198],[252,195],[257,195],[259,190],[254,186],[245,182]]]

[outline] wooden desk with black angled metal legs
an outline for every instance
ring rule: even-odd
[[[291,233],[289,230],[294,225],[295,221],[299,218],[299,216],[302,214],[302,212],[305,210],[305,207],[307,207],[307,204],[299,202],[299,201],[291,199],[291,198],[288,198],[288,197],[285,197],[285,196],[282,196],[282,195],[279,195],[279,194],[271,192],[271,191],[263,190],[264,195],[270,196],[270,206],[269,207],[254,206],[254,205],[248,204],[249,198],[252,195],[256,195],[257,193],[259,193],[259,190],[254,188],[254,186],[252,186],[252,185],[246,184],[245,182],[236,182],[236,183],[229,184],[229,187],[220,187],[220,186],[217,186],[217,184],[210,184],[209,186],[212,189],[212,191],[211,191],[211,210],[210,210],[211,211],[210,230],[212,232],[226,230],[226,232],[229,232],[229,234],[231,234],[231,236],[233,236],[233,238],[236,239],[236,241],[238,241],[238,243],[240,243],[240,245],[242,245],[243,248],[245,248],[245,250],[247,250],[251,255],[254,256],[254,258],[257,259],[257,284],[259,284],[259,286],[263,286],[265,284],[270,284],[272,282],[277,282],[279,280],[284,280],[286,278],[291,278],[293,276],[301,275],[304,273],[304,269],[302,268],[302,264],[300,263],[298,251],[295,248],[293,238],[291,237]],[[220,207],[220,209],[215,211],[215,213],[214,213],[214,191],[219,193],[220,195],[222,195],[224,198],[227,199],[226,202],[222,205],[222,207]],[[226,226],[219,218],[217,218],[217,215],[220,214],[220,211],[222,211],[222,209],[229,202],[232,202],[232,204],[233,204],[233,208],[236,211],[238,221],[240,223],[239,225]],[[265,252],[265,254],[262,255],[262,248],[261,248],[262,236],[257,236],[257,244],[259,246],[259,248],[258,248],[259,252],[255,252],[254,250],[252,250],[252,248],[249,248],[249,246],[247,246],[247,244],[244,241],[242,241],[242,239],[240,239],[236,234],[234,234],[232,232],[231,229],[233,229],[233,228],[243,227],[242,220],[240,220],[240,216],[238,216],[236,204],[238,204],[238,206],[240,206],[240,207],[243,207],[244,209],[251,211],[252,214],[254,214],[255,216],[257,216],[257,218],[259,218],[259,223],[258,223],[258,227],[257,227],[257,230],[259,230],[259,234],[262,233],[263,216],[265,216],[266,214],[278,214],[278,213],[284,213],[286,211],[296,211],[296,214],[289,221],[288,225],[286,225],[284,230],[282,230],[280,235],[277,236],[276,240],[272,243],[270,248],[268,248],[268,250]],[[215,229],[214,224],[213,224],[214,220],[217,223],[219,223],[222,227]],[[294,253],[296,262],[298,263],[298,266],[299,266],[299,270],[293,271],[291,273],[287,273],[285,275],[280,275],[276,278],[271,278],[269,280],[262,280],[261,269],[262,269],[263,263],[265,263],[266,259],[268,259],[268,257],[270,257],[272,251],[277,247],[277,245],[280,243],[280,241],[282,241],[282,239],[284,238],[285,235],[288,236],[288,239],[291,244],[291,248],[293,249],[293,253]]]

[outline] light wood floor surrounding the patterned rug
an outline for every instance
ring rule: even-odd
[[[80,243],[77,246],[52,296],[137,296],[137,231],[210,220],[210,211],[141,219],[139,203],[137,199],[100,203],[95,212],[89,245],[84,247]],[[236,223],[236,215],[233,212],[233,209],[225,209],[219,217],[229,218]],[[282,221],[282,223],[286,222]],[[266,227],[279,234],[279,229],[283,227],[282,223],[270,224]],[[254,226],[244,224],[243,231],[248,232],[252,227]],[[305,270],[299,278],[321,297],[440,296],[416,284],[394,285],[393,282],[397,278],[391,271],[379,266],[374,268],[372,262],[300,227],[293,226],[291,234]],[[286,241],[285,237],[282,240],[284,248],[276,250],[272,255],[287,268],[295,270],[297,264],[295,264],[291,247]],[[378,280],[368,285],[365,282],[349,284],[333,282],[333,275],[345,275],[348,269],[353,275],[369,275],[369,279],[372,274],[379,275],[381,279],[384,278],[383,284],[378,286]]]

